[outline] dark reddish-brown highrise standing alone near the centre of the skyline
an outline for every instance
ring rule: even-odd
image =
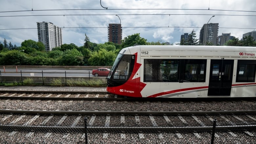
[[[109,24],[108,26],[108,41],[121,44],[122,27],[121,24]]]

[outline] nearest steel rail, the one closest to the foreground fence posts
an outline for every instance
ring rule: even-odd
[[[39,131],[39,132],[84,132],[84,127],[56,127],[56,126],[19,126],[19,125],[0,125],[1,130],[8,131]],[[207,127],[87,127],[89,132],[128,132],[128,133],[160,133],[160,132],[210,132],[212,126]],[[237,125],[237,126],[216,126],[215,131],[249,131],[256,130],[256,125]]]

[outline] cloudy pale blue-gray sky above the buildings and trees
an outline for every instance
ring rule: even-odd
[[[91,42],[105,43],[108,24],[121,20],[123,38],[140,33],[148,42],[179,43],[193,29],[199,38],[212,15],[209,23],[219,23],[219,35],[241,39],[256,29],[255,8],[255,0],[1,0],[0,42],[38,41],[36,22],[45,21],[64,27],[63,43],[82,46],[85,33]]]

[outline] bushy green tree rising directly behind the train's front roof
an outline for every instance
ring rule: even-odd
[[[130,47],[135,44],[138,45],[146,45],[147,40],[140,37],[139,33],[133,34],[133,35],[128,35],[122,40],[122,48]]]

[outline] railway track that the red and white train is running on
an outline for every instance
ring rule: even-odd
[[[32,100],[115,100],[115,101],[194,101],[195,98],[137,98],[110,94],[105,91],[1,91],[0,99],[32,99]],[[197,100],[234,101],[234,100],[256,100],[251,98],[196,98]]]

